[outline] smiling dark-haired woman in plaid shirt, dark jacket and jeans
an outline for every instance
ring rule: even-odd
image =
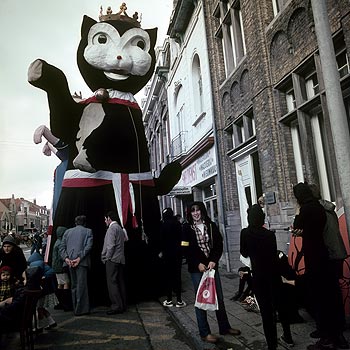
[[[210,220],[203,202],[192,203],[187,212],[187,223],[183,226],[183,241],[195,294],[203,272],[215,269],[215,285],[219,309],[215,311],[221,335],[240,335],[238,329],[231,328],[227,318],[222,292],[218,263],[223,251],[223,240],[216,224]],[[202,340],[216,343],[218,337],[211,334],[207,311],[195,307],[199,334]]]

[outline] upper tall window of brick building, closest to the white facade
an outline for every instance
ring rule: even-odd
[[[215,36],[222,40],[225,72],[228,76],[246,53],[240,1],[220,1],[214,16],[220,19]]]

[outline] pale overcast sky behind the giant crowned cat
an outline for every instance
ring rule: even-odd
[[[0,198],[36,199],[51,207],[53,173],[58,158],[42,153],[44,141],[34,144],[40,125],[49,127],[46,92],[31,86],[27,71],[42,58],[66,75],[72,94],[92,95],[80,75],[76,50],[84,15],[98,21],[100,6],[119,11],[115,0],[1,0],[0,1]],[[172,12],[172,0],[125,1],[127,13],[141,15],[141,27],[158,27],[157,45],[163,44]],[[141,95],[140,95],[141,94]],[[136,98],[140,101],[138,94]],[[46,141],[46,140],[45,140]]]

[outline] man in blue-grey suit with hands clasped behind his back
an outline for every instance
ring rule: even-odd
[[[87,274],[93,235],[92,230],[85,227],[85,215],[77,216],[75,225],[64,233],[59,253],[69,267],[74,314],[81,316],[90,313]]]

